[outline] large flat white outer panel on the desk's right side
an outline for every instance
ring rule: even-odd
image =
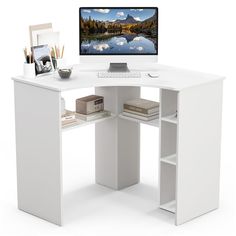
[[[176,224],[218,208],[222,81],[179,93]]]

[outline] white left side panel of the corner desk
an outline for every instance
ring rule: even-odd
[[[18,208],[61,225],[60,92],[14,82]]]

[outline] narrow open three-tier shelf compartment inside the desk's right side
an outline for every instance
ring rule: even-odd
[[[160,93],[160,208],[176,212],[178,92]]]

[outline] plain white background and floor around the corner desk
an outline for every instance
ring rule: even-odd
[[[0,235],[236,235],[235,4],[235,0],[1,1]],[[158,210],[158,129],[147,126],[141,127],[140,185],[114,192],[94,184],[94,127],[83,127],[63,134],[64,226],[17,210],[10,78],[22,74],[23,48],[29,45],[28,26],[33,24],[52,22],[61,32],[67,61],[78,62],[79,6],[158,6],[160,64],[227,77],[218,210],[178,227],[171,214]],[[93,90],[66,93],[67,105],[72,107],[75,98],[90,93]],[[142,95],[158,99],[154,90],[145,89]]]

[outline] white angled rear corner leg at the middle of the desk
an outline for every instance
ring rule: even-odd
[[[123,103],[140,97],[139,87],[98,87],[105,109],[118,115]],[[96,124],[96,182],[122,189],[139,182],[140,127],[119,117]]]

